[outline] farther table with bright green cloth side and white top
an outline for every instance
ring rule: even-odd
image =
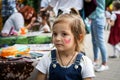
[[[0,45],[51,43],[51,33],[30,32],[23,36],[1,37]]]

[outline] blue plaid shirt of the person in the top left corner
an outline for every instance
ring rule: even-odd
[[[16,0],[2,0],[2,20],[3,25],[5,24],[5,21],[14,13],[17,12],[16,8]]]

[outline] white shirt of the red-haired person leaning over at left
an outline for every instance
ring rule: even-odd
[[[20,28],[24,27],[24,17],[21,13],[13,13],[5,22],[1,33],[9,33],[11,28],[15,31],[19,31]]]

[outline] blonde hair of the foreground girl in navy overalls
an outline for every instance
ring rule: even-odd
[[[80,17],[79,12],[75,8],[71,8],[71,11],[69,14],[66,13],[58,16],[58,18],[53,23],[53,27],[58,23],[69,24],[71,31],[74,35],[75,43],[76,43],[75,51],[82,51],[86,31],[85,31],[84,22]]]

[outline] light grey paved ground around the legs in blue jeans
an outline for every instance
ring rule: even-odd
[[[108,55],[113,53],[112,47],[107,43],[107,39],[109,36],[109,31],[105,31],[105,40],[107,45]],[[86,36],[85,42],[85,51],[87,56],[93,60],[93,51],[92,51],[92,43],[91,43],[91,35],[88,34]],[[99,59],[101,62],[101,58]],[[108,58],[109,70],[103,72],[95,72],[96,77],[94,80],[120,80],[120,58],[117,59],[109,59]]]

